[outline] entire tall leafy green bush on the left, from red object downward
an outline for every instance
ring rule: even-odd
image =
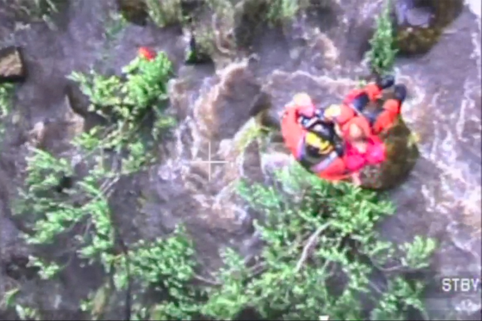
[[[156,118],[151,131],[154,138],[174,125],[166,110],[166,86],[171,76],[171,63],[161,53],[151,61],[134,59],[123,69],[123,76],[105,77],[91,71],[70,77],[89,97],[89,109],[110,122],[72,142],[81,155],[77,164],[89,168],[83,177],[76,177],[74,164],[66,157],[32,148],[27,158],[25,187],[15,204],[15,214],[28,229],[24,238],[41,248],[63,245],[53,252],[62,254],[31,258],[29,264],[39,268],[42,278],[54,277],[73,256],[100,262],[106,273],[125,260],[123,255],[127,254],[115,250],[119,235],[108,198],[121,177],[142,171],[154,159],[142,130],[146,118]],[[115,162],[109,163],[109,159]],[[71,186],[59,187],[65,178],[76,180]]]

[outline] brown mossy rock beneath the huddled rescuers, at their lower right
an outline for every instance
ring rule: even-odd
[[[403,119],[381,136],[387,147],[387,161],[368,166],[362,173],[362,187],[386,190],[400,185],[410,174],[419,157],[414,135]]]

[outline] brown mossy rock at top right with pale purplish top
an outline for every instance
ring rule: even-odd
[[[427,53],[462,9],[462,0],[396,0],[393,21],[399,52]]]

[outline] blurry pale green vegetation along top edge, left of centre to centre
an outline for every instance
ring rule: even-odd
[[[229,56],[230,50],[243,42],[240,39],[250,38],[258,26],[291,22],[300,10],[308,8],[309,0],[205,0],[189,9],[180,0],[146,0],[146,5],[156,25],[181,24],[187,28],[200,55]]]

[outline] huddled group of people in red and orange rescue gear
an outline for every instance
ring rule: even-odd
[[[392,98],[371,109],[393,88]],[[340,105],[317,108],[306,93],[298,93],[285,106],[281,131],[286,147],[297,161],[321,179],[351,182],[358,186],[360,170],[383,163],[385,144],[380,134],[398,120],[407,96],[403,84],[393,76],[378,77],[361,89],[348,93]]]

